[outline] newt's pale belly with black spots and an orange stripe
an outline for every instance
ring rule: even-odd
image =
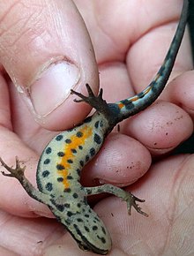
[[[96,113],[48,143],[37,169],[37,184],[41,192],[59,196],[79,185],[81,169],[97,154],[104,140],[100,117]]]

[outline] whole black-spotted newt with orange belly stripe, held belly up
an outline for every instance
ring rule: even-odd
[[[162,92],[183,39],[188,4],[188,1],[183,1],[179,25],[164,62],[153,81],[142,92],[120,102],[107,103],[102,98],[102,89],[97,96],[88,84],[87,96],[71,90],[71,94],[79,97],[75,102],[86,102],[96,111],[93,116],[86,117],[82,124],[56,135],[45,147],[36,172],[38,189],[26,179],[26,166],[21,167],[17,157],[15,169],[0,159],[9,172],[3,171],[4,176],[17,178],[29,196],[47,205],[83,250],[107,254],[112,244],[106,226],[88,205],[87,196],[107,192],[126,202],[129,215],[131,207],[134,207],[139,214],[147,216],[138,206],[138,202],[145,200],[112,184],[84,187],[80,184],[80,173],[86,163],[99,152],[104,139],[116,124],[146,109]]]

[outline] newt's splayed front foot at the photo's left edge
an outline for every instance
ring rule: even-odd
[[[20,182],[23,181],[24,179],[24,172],[25,172],[25,169],[26,169],[26,166],[24,167],[21,167],[20,164],[19,164],[19,159],[18,157],[16,156],[16,168],[12,168],[12,167],[9,167],[4,161],[3,159],[0,157],[0,162],[1,164],[4,166],[5,169],[7,169],[9,171],[9,173],[5,173],[4,171],[2,171],[2,174],[4,176],[7,176],[7,177],[15,177],[17,178]]]

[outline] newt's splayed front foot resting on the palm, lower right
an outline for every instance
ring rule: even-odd
[[[139,214],[145,215],[146,217],[148,217],[148,215],[145,212],[143,212],[141,210],[141,207],[139,207],[137,204],[137,201],[142,203],[142,202],[145,202],[145,200],[138,199],[133,194],[131,194],[131,192],[129,192],[126,198],[124,198],[123,200],[125,200],[127,203],[127,209],[128,209],[129,215],[131,215],[131,207],[134,207]]]

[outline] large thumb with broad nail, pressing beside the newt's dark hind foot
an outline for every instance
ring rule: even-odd
[[[0,20],[0,62],[35,119],[61,130],[86,117],[89,107],[72,101],[71,88],[89,83],[96,92],[98,71],[71,0],[4,1]]]

